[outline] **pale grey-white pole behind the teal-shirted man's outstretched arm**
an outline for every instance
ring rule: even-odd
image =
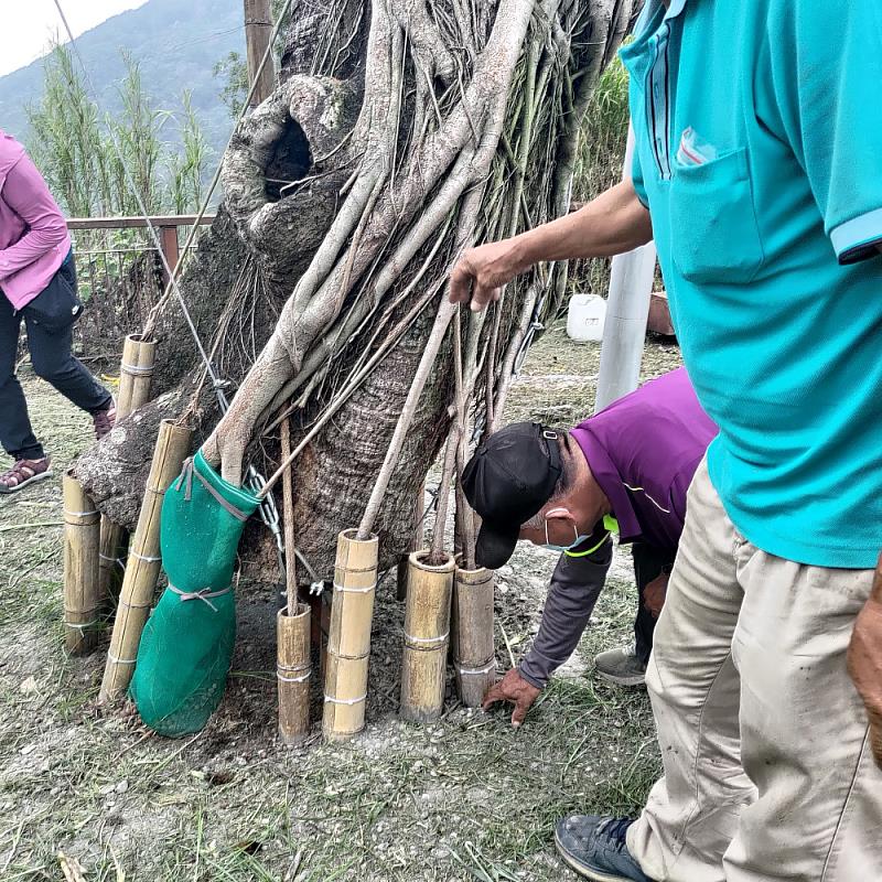
[[[628,126],[623,178],[631,178],[634,130]],[[654,243],[613,258],[606,321],[600,349],[594,412],[637,388],[655,278]]]

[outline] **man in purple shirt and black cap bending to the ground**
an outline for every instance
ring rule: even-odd
[[[490,438],[463,473],[482,517],[476,558],[497,569],[518,539],[563,551],[539,633],[484,706],[515,703],[519,725],[551,671],[572,654],[612,561],[612,531],[634,546],[639,602],[635,644],[595,659],[601,676],[643,681],[667,574],[686,517],[686,492],[717,427],[684,368],[647,383],[570,432],[514,423]]]

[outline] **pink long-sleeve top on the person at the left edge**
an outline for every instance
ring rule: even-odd
[[[71,250],[67,224],[24,148],[0,131],[0,289],[13,309],[30,303]]]

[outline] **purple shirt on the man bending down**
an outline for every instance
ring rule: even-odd
[[[680,367],[570,432],[612,505],[621,542],[676,550],[686,492],[717,431]]]

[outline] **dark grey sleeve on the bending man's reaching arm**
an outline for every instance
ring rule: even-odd
[[[588,626],[613,559],[612,539],[585,557],[561,555],[548,591],[539,633],[518,669],[545,688],[551,674],[573,653]]]

